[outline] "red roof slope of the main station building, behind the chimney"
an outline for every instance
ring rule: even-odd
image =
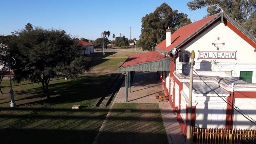
[[[212,16],[206,17],[204,19],[201,19],[199,21],[196,21],[194,23],[185,25],[178,30],[176,30],[174,33],[171,34],[171,45],[166,47],[166,39],[163,40],[161,43],[159,43],[156,47],[164,50],[166,52],[171,51],[173,48],[175,48],[178,44],[185,41],[187,38],[189,38],[191,35],[196,33],[198,30],[200,30],[203,26],[208,24],[211,20],[213,20],[215,17],[219,16],[220,13],[214,14]]]

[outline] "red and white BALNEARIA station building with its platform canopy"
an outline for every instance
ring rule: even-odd
[[[186,135],[192,50],[192,126],[256,129],[256,38],[225,13],[166,30],[155,51],[130,56],[120,66],[127,89],[134,72],[157,72]]]

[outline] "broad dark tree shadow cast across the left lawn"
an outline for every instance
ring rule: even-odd
[[[34,105],[39,103],[74,103],[85,100],[96,102],[107,90],[115,77],[110,75],[86,75],[79,80],[69,80],[49,84],[50,99],[45,99],[42,87],[31,88],[14,92],[17,106]],[[34,101],[33,101],[34,100]],[[8,101],[2,102],[8,103]]]

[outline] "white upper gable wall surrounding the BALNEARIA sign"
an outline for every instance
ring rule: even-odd
[[[224,42],[221,49],[217,50],[212,43],[217,38]],[[214,70],[214,71],[232,71],[233,77],[239,77],[240,71],[252,71],[252,83],[256,83],[256,52],[249,43],[243,40],[229,27],[220,21],[215,23],[209,29],[192,40],[183,50],[195,51],[194,69]],[[236,59],[201,59],[199,52],[236,52]],[[199,59],[198,59],[199,58]],[[200,73],[200,72],[199,72]]]

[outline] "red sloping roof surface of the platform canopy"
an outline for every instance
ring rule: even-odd
[[[151,51],[130,56],[120,67],[143,64],[163,59],[167,59],[163,53],[159,51]]]

